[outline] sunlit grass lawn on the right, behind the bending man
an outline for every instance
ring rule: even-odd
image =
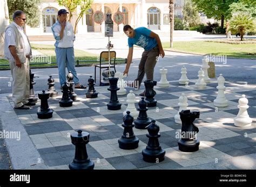
[[[255,44],[223,44],[206,41],[174,41],[173,48],[170,42],[163,42],[164,49],[177,52],[188,52],[200,55],[227,55],[227,57],[256,59]]]

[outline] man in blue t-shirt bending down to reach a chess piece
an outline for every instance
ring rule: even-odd
[[[138,27],[133,30],[130,25],[125,25],[124,33],[127,35],[127,37],[129,37],[129,53],[127,56],[127,64],[124,70],[124,75],[128,75],[129,72],[132,62],[133,45],[137,45],[145,49],[145,51],[142,53],[142,59],[139,62],[138,76],[131,85],[131,87],[139,88],[145,74],[147,80],[153,81],[154,67],[156,66],[158,56],[160,54],[161,57],[164,57],[165,53],[158,34],[150,31],[146,27]],[[140,96],[144,95],[145,91],[140,93]]]

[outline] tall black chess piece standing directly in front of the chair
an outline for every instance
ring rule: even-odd
[[[120,89],[117,87],[117,81],[118,81],[118,78],[114,77],[114,75],[112,75],[112,77],[109,78],[110,87],[107,90],[109,90],[111,93],[110,93],[110,102],[107,103],[108,110],[120,110],[121,109],[122,104],[119,103],[118,98],[117,98],[117,90]]]

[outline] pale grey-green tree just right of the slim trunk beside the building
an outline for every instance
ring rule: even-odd
[[[187,27],[194,27],[200,24],[200,17],[196,5],[186,1],[183,8],[184,22]]]

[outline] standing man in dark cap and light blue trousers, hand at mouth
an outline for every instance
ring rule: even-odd
[[[55,42],[55,53],[59,71],[59,83],[62,87],[66,81],[66,69],[74,76],[73,81],[75,82],[75,88],[86,89],[86,86],[79,82],[77,77],[77,71],[75,69],[75,54],[73,48],[73,41],[75,41],[75,33],[73,26],[66,21],[67,12],[65,9],[58,11],[58,21],[52,25],[51,30],[56,40]]]

